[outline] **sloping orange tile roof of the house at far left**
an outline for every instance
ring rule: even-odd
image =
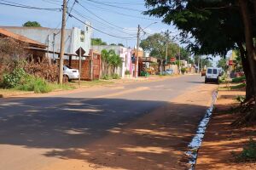
[[[3,37],[14,38],[15,40],[18,40],[20,42],[29,43],[32,46],[36,46],[36,47],[40,47],[40,48],[47,48],[47,46],[44,45],[43,43],[37,42],[37,41],[32,40],[32,39],[30,39],[28,37],[21,36],[19,34],[15,34],[14,32],[7,31],[7,30],[5,30],[3,28],[0,28],[0,35],[3,35]]]

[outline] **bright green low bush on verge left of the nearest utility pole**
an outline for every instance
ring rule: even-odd
[[[39,93],[49,93],[53,90],[49,82],[46,82],[44,79],[39,77],[33,77],[27,75],[21,82],[19,86],[16,87],[19,90],[23,91],[34,91],[36,94]]]

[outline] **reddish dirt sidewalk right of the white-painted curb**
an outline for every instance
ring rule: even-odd
[[[256,169],[255,163],[237,163],[231,154],[233,151],[241,151],[249,137],[256,139],[255,127],[230,127],[230,123],[234,122],[237,116],[227,113],[227,110],[230,110],[231,106],[239,105],[235,100],[236,96],[244,94],[243,91],[219,91],[212,120],[199,150],[196,170]]]

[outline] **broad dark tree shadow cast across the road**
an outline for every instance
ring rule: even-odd
[[[53,105],[58,100],[61,105]],[[86,146],[97,139],[102,139],[111,129],[120,129],[138,117],[163,106],[171,105],[168,111],[169,119],[161,122],[161,126],[152,122],[150,129],[130,129],[126,135],[134,135],[137,142],[107,148],[104,144],[90,149]],[[186,114],[189,108],[193,114]],[[16,99],[0,103],[0,144],[20,145],[26,148],[50,149],[44,156],[61,157],[63,159],[79,159],[102,165],[96,161],[97,156],[114,160],[116,156],[133,154],[133,161],[143,161],[154,164],[152,169],[159,166],[170,166],[168,160],[154,160],[155,156],[170,154],[132,150],[137,147],[163,147],[168,150],[185,151],[194,135],[198,122],[207,107],[201,105],[183,105],[149,100],[127,99]],[[152,128],[156,132],[150,133]],[[177,133],[171,133],[177,132]],[[178,140],[177,140],[178,139]],[[101,151],[99,151],[101,150]],[[164,149],[163,149],[164,150]],[[84,154],[85,152],[85,154]],[[109,154],[109,153],[112,154]],[[119,155],[119,153],[122,155]],[[173,155],[175,157],[175,155]],[[179,158],[181,159],[181,158]],[[107,160],[107,161],[108,161]],[[113,161],[114,162],[114,161]],[[137,170],[131,164],[115,162],[108,167]],[[175,169],[175,168],[174,168]]]

